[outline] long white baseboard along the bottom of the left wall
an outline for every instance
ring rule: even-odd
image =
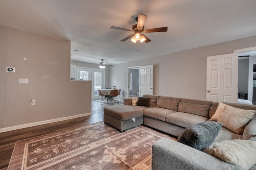
[[[51,119],[51,120],[46,120],[46,121],[38,121],[38,122],[28,123],[28,124],[24,124],[24,125],[5,127],[5,128],[0,129],[0,133],[7,132],[7,131],[13,131],[13,130],[17,130],[17,129],[23,129],[23,128],[26,128],[26,127],[44,125],[44,124],[47,124],[47,123],[54,123],[54,122],[57,122],[57,121],[64,121],[64,120],[68,120],[68,119],[74,119],[74,118],[77,118],[77,117],[89,116],[89,115],[92,115],[92,113],[90,112],[90,113],[84,113],[84,114],[80,114],[80,115],[61,117],[61,118],[58,118],[58,119]]]

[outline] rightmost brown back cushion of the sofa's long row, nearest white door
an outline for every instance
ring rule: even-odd
[[[183,98],[179,102],[178,111],[208,117],[211,105],[212,101]]]

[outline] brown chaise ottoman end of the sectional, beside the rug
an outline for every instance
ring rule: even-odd
[[[104,123],[115,127],[121,132],[143,124],[143,111],[148,107],[115,105],[104,107]]]

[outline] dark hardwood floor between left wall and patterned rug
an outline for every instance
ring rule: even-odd
[[[119,104],[123,104],[123,102],[119,102]],[[0,133],[0,170],[7,170],[15,141],[103,121],[103,108],[111,105],[100,105],[97,100],[92,100],[92,115],[90,116]]]

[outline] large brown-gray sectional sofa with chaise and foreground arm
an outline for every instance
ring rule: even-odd
[[[124,105],[104,108],[104,122],[120,131],[144,124],[179,137],[191,125],[212,121],[210,118],[214,115],[219,104],[219,102],[168,96],[144,95],[143,97],[150,98],[150,107],[132,106],[132,99],[127,98],[124,99]],[[256,110],[256,105],[224,104],[240,109]],[[132,118],[135,118],[135,121],[131,120]],[[222,127],[214,143],[231,139],[256,141],[256,115],[246,125],[243,134],[237,134]],[[152,170],[172,169],[221,170],[242,168],[177,141],[167,138],[159,139],[152,146]],[[250,170],[256,170],[256,165],[252,166]]]

